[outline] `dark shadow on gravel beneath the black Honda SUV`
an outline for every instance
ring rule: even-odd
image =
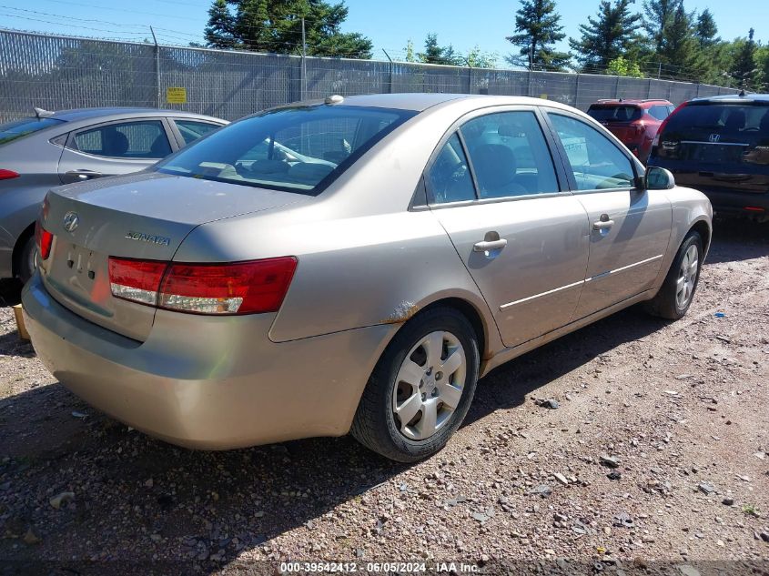
[[[713,245],[705,264],[735,262],[769,255],[769,222],[738,218],[713,220]]]

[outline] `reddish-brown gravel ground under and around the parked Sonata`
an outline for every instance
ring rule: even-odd
[[[532,559],[766,573],[769,240],[717,224],[683,320],[631,308],[495,370],[449,447],[412,466],[350,438],[228,452],[147,438],[56,383],[0,308],[0,573]]]

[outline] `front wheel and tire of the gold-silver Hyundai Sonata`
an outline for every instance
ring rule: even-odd
[[[657,295],[646,303],[646,310],[661,318],[683,318],[692,305],[703,267],[703,238],[692,230],[683,238],[670,270]]]

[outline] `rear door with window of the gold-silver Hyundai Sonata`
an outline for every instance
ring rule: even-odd
[[[432,213],[509,347],[570,322],[588,258],[587,215],[540,122],[525,106],[468,117],[425,176]]]

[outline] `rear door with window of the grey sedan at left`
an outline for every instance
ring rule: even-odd
[[[65,184],[137,172],[173,151],[166,122],[142,118],[106,122],[73,131],[59,160]]]

